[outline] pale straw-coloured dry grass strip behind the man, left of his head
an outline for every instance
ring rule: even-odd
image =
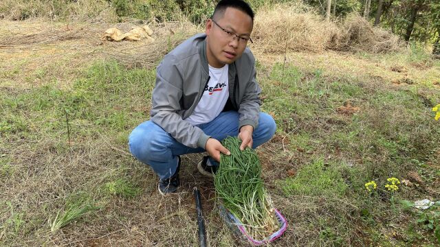
[[[181,40],[199,31],[189,22],[149,23],[155,42],[146,40],[111,42],[100,37],[109,27],[128,31],[143,25],[138,21],[124,23],[52,23],[47,21],[0,20],[0,64],[3,86],[42,84],[57,80],[70,84],[78,73],[96,59],[113,59],[127,67],[155,67],[159,58]],[[62,68],[62,69],[54,69]],[[18,73],[18,71],[21,71]],[[41,74],[38,79],[23,76]],[[20,82],[19,85],[16,82]]]

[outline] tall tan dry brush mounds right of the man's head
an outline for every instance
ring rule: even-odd
[[[262,52],[401,51],[404,45],[394,34],[372,27],[358,14],[351,14],[338,25],[325,21],[300,3],[265,7],[256,14],[253,48]]]

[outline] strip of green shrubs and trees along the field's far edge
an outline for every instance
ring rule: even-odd
[[[182,16],[195,24],[203,23],[214,10],[215,0],[4,0],[0,18],[25,20],[34,17],[58,20],[177,21]],[[440,54],[440,3],[437,0],[250,0],[255,10],[276,3],[301,2],[324,16],[329,10],[335,21],[358,13],[406,42],[432,45]],[[329,6],[329,7],[327,7]]]

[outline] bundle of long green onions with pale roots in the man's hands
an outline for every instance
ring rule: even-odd
[[[264,239],[277,230],[278,221],[261,179],[259,157],[251,148],[241,151],[241,141],[236,137],[228,137],[222,144],[231,154],[221,154],[214,176],[217,198],[254,239]]]

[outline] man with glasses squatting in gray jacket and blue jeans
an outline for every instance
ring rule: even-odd
[[[244,150],[273,137],[276,124],[260,112],[255,58],[246,47],[253,25],[248,3],[222,0],[205,34],[188,38],[158,65],[151,120],[131,132],[129,148],[159,176],[162,195],[179,187],[181,155],[207,152],[197,168],[212,176],[220,153],[230,154],[221,140],[238,135]]]

